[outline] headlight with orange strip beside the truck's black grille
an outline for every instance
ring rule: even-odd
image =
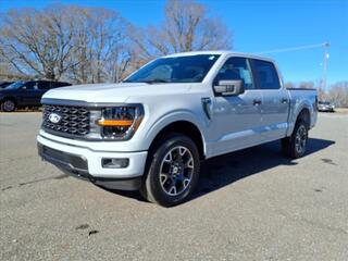
[[[101,137],[105,139],[129,139],[144,117],[142,105],[104,108],[97,124],[101,127]]]

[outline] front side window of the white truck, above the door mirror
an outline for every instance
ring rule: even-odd
[[[219,80],[241,79],[245,89],[253,89],[252,75],[246,58],[229,58],[219,70],[214,84]]]

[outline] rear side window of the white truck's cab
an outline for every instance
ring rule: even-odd
[[[271,62],[252,60],[253,75],[260,89],[279,89],[281,83],[275,66]]]

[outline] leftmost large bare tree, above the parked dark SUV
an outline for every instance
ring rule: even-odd
[[[62,8],[9,11],[1,21],[0,55],[21,74],[59,79],[73,66],[73,26]]]

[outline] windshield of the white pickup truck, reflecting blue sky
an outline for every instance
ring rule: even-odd
[[[135,72],[124,83],[201,83],[220,55],[160,58]]]

